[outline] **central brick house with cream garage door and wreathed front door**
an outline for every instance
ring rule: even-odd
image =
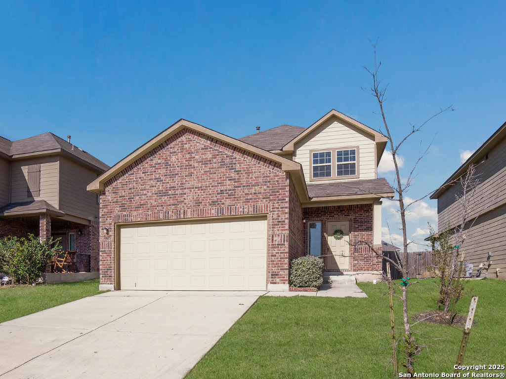
[[[101,289],[285,291],[305,254],[372,278],[380,200],[394,195],[376,178],[386,144],[334,110],[239,140],[176,122],[88,186],[101,195]]]

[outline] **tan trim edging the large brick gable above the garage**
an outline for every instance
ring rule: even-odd
[[[136,162],[138,159],[142,158],[145,154],[149,153],[153,149],[155,149],[157,146],[162,144],[166,139],[171,137],[172,135],[176,134],[178,131],[188,128],[195,130],[197,132],[200,132],[202,134],[208,135],[210,137],[216,138],[220,141],[223,141],[227,144],[230,144],[232,146],[238,147],[240,149],[243,149],[245,151],[257,154],[260,157],[264,157],[266,159],[269,159],[273,162],[281,164],[281,169],[289,172],[290,174],[296,175],[300,178],[300,180],[297,180],[297,182],[304,183],[304,176],[302,175],[302,167],[299,163],[290,161],[289,159],[280,157],[276,154],[269,153],[263,149],[260,149],[258,147],[249,145],[244,143],[243,141],[240,141],[238,139],[229,137],[225,134],[221,134],[217,131],[214,131],[212,129],[208,129],[202,125],[195,124],[193,122],[187,121],[187,120],[179,120],[172,126],[168,127],[155,137],[151,138],[147,143],[136,149],[134,152],[132,152],[130,155],[126,156],[122,160],[120,160],[118,163],[116,163],[114,166],[112,166],[109,170],[104,172],[102,175],[100,175],[96,180],[94,180],[92,183],[88,185],[88,191],[92,191],[95,193],[100,193],[102,189],[104,189],[104,183],[115,176],[117,173],[121,172],[123,169],[131,165],[132,163]],[[307,189],[305,185],[300,185],[298,187],[298,193],[299,196],[302,198],[307,199]]]

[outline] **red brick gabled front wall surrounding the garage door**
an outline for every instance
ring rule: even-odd
[[[100,229],[109,234],[100,233],[101,284],[114,284],[118,222],[255,214],[268,215],[267,280],[287,284],[289,180],[275,162],[180,130],[105,183]]]

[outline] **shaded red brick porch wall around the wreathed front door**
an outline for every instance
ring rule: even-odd
[[[372,246],[372,204],[342,205],[333,207],[304,208],[304,251],[308,251],[308,225],[322,222],[322,254],[327,254],[327,221],[350,220],[350,269],[343,271],[381,271],[382,259],[363,242]],[[362,243],[361,243],[362,242]],[[374,246],[381,252],[381,246]]]

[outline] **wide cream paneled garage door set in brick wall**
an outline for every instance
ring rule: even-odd
[[[265,290],[267,220],[123,226],[122,290]]]

